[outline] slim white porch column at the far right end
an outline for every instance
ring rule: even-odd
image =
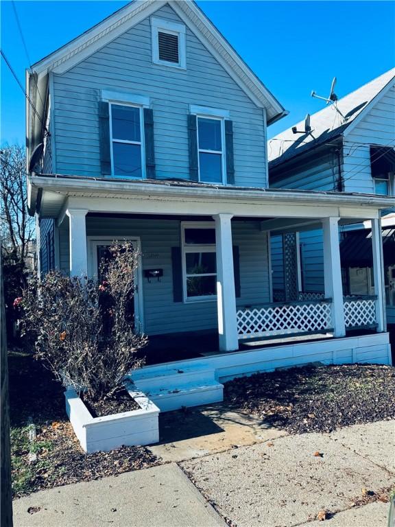
[[[374,294],[376,300],[376,324],[377,331],[386,330],[385,321],[385,296],[383,283],[383,236],[381,233],[381,220],[372,220],[372,253],[373,253],[373,274],[374,274]]]

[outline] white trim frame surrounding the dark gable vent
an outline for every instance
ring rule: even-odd
[[[158,32],[178,36],[178,64],[159,59]],[[187,69],[186,30],[184,24],[151,16],[152,62],[178,69]]]

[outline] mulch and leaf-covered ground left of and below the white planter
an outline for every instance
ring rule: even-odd
[[[13,352],[9,373],[14,497],[158,465],[145,447],[85,454],[64,410],[64,389],[42,364],[31,355]],[[36,425],[33,443],[29,442],[29,421]],[[37,460],[29,463],[32,447]]]

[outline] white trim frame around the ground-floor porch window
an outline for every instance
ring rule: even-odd
[[[185,229],[213,229],[213,231],[215,231],[215,224],[211,222],[181,222],[182,296],[184,304],[190,304],[195,302],[216,302],[216,294],[190,297],[188,297],[187,295],[187,253],[216,253],[217,244],[187,245],[185,243]],[[209,272],[206,274],[200,274],[199,276],[217,277],[217,272]]]

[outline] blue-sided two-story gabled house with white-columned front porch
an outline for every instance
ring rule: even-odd
[[[37,62],[27,90],[28,155],[43,143],[28,177],[42,274],[95,277],[112,241],[132,239],[136,329],[170,348],[182,336],[178,373],[200,368],[202,389],[316,360],[390,362],[377,218],[395,201],[268,189],[267,125],[285,110],[195,3],[128,4]],[[305,218],[324,228],[326,298],[274,305],[268,232]],[[348,318],[359,306],[343,306],[337,229],[366,220],[378,300],[362,335]],[[207,333],[218,343],[197,350]]]

